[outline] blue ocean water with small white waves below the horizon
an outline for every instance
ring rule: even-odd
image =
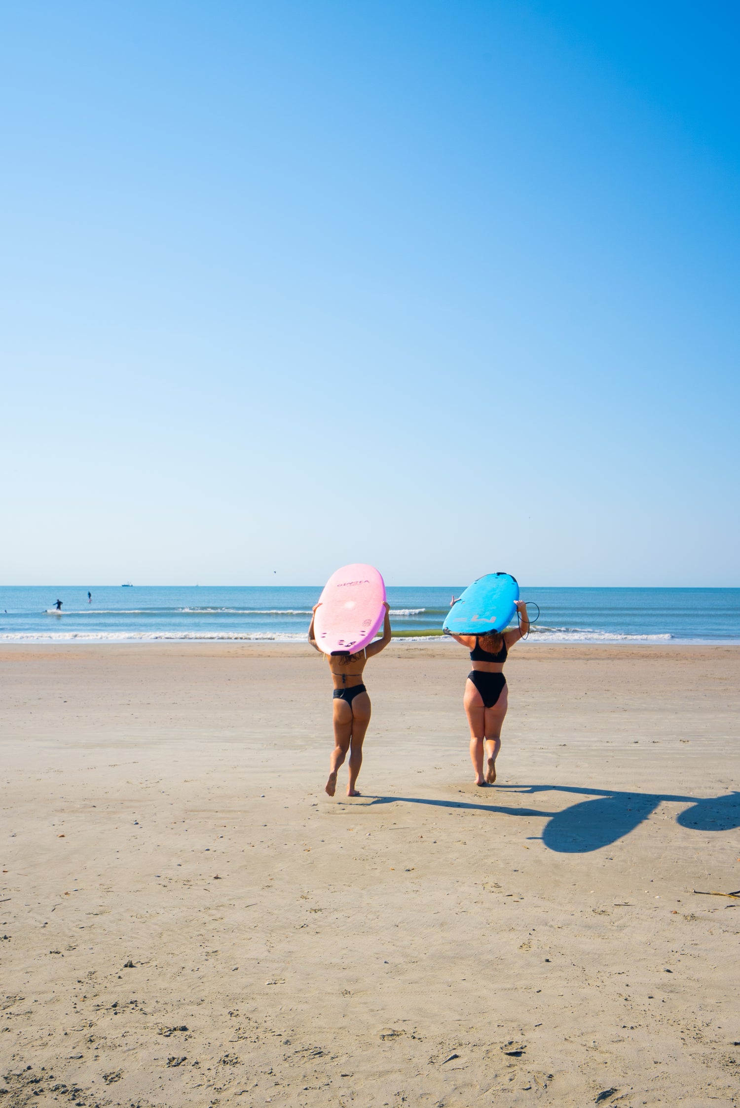
[[[397,633],[434,630],[465,586],[389,587]],[[0,642],[305,638],[320,585],[0,586]],[[51,614],[61,599],[62,615]],[[522,586],[539,642],[740,642],[740,588]],[[532,614],[536,608],[532,608]]]

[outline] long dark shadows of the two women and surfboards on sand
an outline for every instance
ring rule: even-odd
[[[696,831],[730,831],[740,827],[740,792],[700,799],[658,792],[619,792],[616,789],[580,789],[561,784],[499,786],[517,796],[538,792],[565,792],[586,796],[588,800],[571,804],[557,812],[541,808],[513,808],[502,804],[476,804],[460,800],[430,800],[422,797],[367,797],[368,807],[378,804],[425,804],[431,808],[463,809],[499,815],[528,815],[545,819],[542,841],[559,854],[586,854],[609,847],[628,835],[646,820],[662,801],[688,803],[676,819],[684,828]]]

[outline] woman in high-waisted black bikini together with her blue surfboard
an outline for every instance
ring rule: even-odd
[[[470,757],[480,786],[496,780],[501,728],[508,707],[504,661],[512,646],[530,630],[526,603],[518,595],[516,579],[510,574],[486,574],[459,599],[453,597],[453,607],[444,620],[445,632],[470,650],[473,664],[463,705],[470,725]],[[514,612],[518,613],[518,627],[505,630]]]

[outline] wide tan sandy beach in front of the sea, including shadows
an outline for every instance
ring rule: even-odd
[[[740,648],[3,646],[0,1105],[729,1106]]]

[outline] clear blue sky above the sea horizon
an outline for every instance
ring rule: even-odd
[[[0,10],[3,583],[740,585],[736,4]]]

